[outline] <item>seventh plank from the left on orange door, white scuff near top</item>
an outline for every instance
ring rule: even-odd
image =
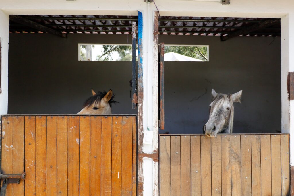
[[[80,194],[80,117],[79,116],[68,116],[67,122],[67,137],[68,137],[68,184],[67,192],[68,195],[79,195]],[[74,171],[74,172],[73,172]]]

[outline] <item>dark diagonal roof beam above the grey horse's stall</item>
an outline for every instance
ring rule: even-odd
[[[263,29],[265,27],[274,25],[275,23],[277,23],[279,21],[280,21],[279,18],[278,19],[268,19],[268,20],[265,20],[265,21],[261,21],[261,22],[259,22],[257,24],[245,27],[244,29],[241,29],[239,31],[234,31],[232,33],[229,33],[226,36],[221,36],[220,41],[226,41],[226,40],[228,40],[230,38],[233,38],[233,37],[249,34],[249,33],[253,32],[253,31],[257,31],[259,29]]]

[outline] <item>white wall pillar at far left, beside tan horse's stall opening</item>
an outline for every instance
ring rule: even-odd
[[[0,42],[1,42],[1,89],[0,114],[7,114],[8,104],[8,37],[9,16],[0,10]]]

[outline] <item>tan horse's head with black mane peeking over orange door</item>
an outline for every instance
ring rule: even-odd
[[[77,114],[112,114],[111,103],[119,103],[113,100],[114,96],[111,89],[107,93],[95,93],[92,89],[92,96],[85,101],[83,109]]]

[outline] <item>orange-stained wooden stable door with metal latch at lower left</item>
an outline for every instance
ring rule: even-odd
[[[136,116],[2,116],[6,195],[136,195]],[[25,172],[25,180],[12,179]]]

